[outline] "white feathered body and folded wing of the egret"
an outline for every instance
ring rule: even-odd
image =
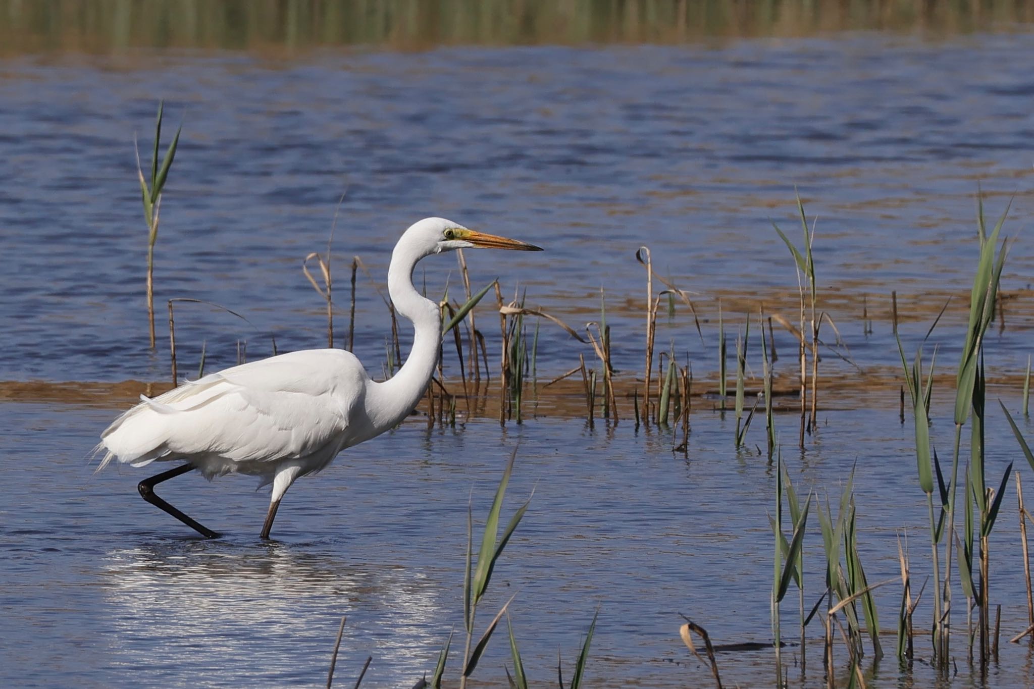
[[[133,466],[187,459],[206,475],[266,474],[275,460],[329,462],[367,437],[369,377],[351,352],[310,349],[244,364],[143,401],[100,436]],[[328,456],[329,455],[329,456]],[[313,467],[318,468],[318,467]]]

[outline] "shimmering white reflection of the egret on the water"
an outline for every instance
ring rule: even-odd
[[[340,670],[370,655],[370,679],[412,683],[448,634],[440,583],[311,543],[146,543],[111,552],[102,571],[113,662],[143,684],[312,684],[326,678],[342,615]]]

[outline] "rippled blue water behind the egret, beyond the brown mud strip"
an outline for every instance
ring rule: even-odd
[[[1030,58],[1030,59],[1028,59]],[[449,49],[419,54],[317,54],[269,63],[234,54],[29,58],[2,63],[0,379],[123,380],[168,376],[166,300],[220,304],[252,325],[179,305],[183,371],[326,343],[325,310],[301,260],[334,238],[337,341],[347,326],[348,265],[359,255],[383,283],[390,247],[427,215],[538,243],[542,254],[474,252],[477,288],[501,279],[529,304],[581,328],[606,288],[615,365],[641,367],[645,275],[656,269],[696,293],[713,321],[767,310],[791,319],[796,278],[771,229],[798,240],[794,186],[818,216],[821,305],[863,366],[896,366],[889,292],[907,338],[948,295],[939,333],[954,356],[976,251],[974,193],[1010,195],[1017,233],[1034,210],[1034,122],[1027,36],[924,43],[879,35],[742,41],[703,48]],[[158,354],[143,295],[146,231],[132,137],[147,147],[155,96],[166,134],[184,134],[161,207],[156,254]],[[146,151],[145,151],[146,155]],[[1015,244],[1006,294],[1027,297],[1030,242]],[[591,248],[591,251],[587,251]],[[439,295],[452,258],[418,280]],[[869,295],[875,333],[862,336]],[[1034,312],[1006,309],[994,367],[1025,363]],[[662,311],[663,313],[663,311]],[[687,309],[659,345],[702,345]],[[483,320],[492,343],[494,327]],[[379,373],[387,312],[360,273],[355,350]],[[789,349],[792,339],[780,334]],[[497,346],[497,345],[496,345]],[[494,348],[493,348],[494,349]],[[540,370],[590,355],[545,323]],[[452,363],[450,361],[450,366]],[[831,367],[839,366],[835,361]]]

